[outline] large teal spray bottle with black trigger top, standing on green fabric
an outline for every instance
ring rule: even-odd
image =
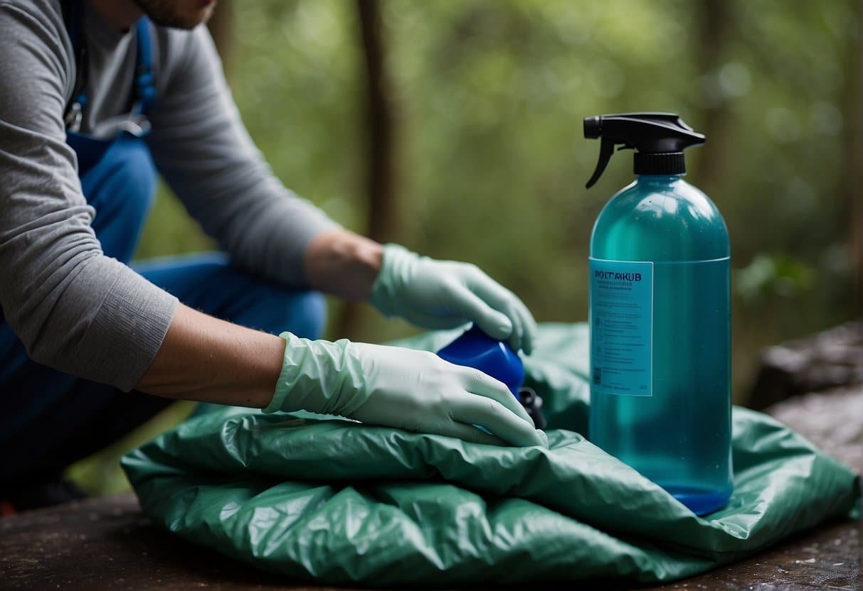
[[[683,180],[704,143],[666,113],[584,120],[602,138],[588,187],[615,146],[638,179],[602,209],[590,239],[589,439],[698,514],[732,491],[728,229]]]

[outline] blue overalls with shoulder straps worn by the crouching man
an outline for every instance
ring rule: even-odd
[[[79,26],[79,17],[72,22]],[[74,47],[79,34],[71,25],[69,33]],[[155,100],[146,19],[138,23],[136,34],[139,74],[135,111],[130,115],[135,123],[113,140],[74,131],[66,137],[77,155],[84,195],[96,209],[93,230],[104,254],[123,263],[129,263],[135,252],[156,178],[145,142],[145,117]],[[76,105],[84,109],[85,96],[79,96]],[[320,294],[288,289],[240,271],[222,253],[160,259],[135,270],[187,306],[224,320],[312,339],[323,330]],[[129,339],[134,338],[130,331]],[[119,439],[170,402],[37,364],[9,325],[0,322],[0,499],[16,498],[16,491],[41,482],[58,481],[68,464]]]

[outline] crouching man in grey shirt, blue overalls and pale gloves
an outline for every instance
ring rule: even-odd
[[[230,96],[214,4],[0,0],[0,499],[65,500],[69,463],[176,398],[544,445],[482,372],[320,339],[319,292],[525,352],[535,325],[476,266],[381,246],[287,190]],[[222,252],[129,266],[156,171]]]

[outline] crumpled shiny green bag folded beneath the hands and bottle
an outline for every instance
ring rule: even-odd
[[[456,333],[400,345],[436,350]],[[668,582],[854,508],[852,470],[734,408],[734,495],[698,518],[579,434],[587,327],[543,325],[535,349],[526,385],[545,401],[547,450],[226,407],[123,467],[144,512],[182,538],[289,579],[371,586]]]

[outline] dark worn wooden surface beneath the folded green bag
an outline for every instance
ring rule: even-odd
[[[863,463],[863,389],[782,402],[771,414],[836,457]],[[822,525],[769,551],[653,589],[858,589],[860,531]],[[594,588],[589,582],[577,588]],[[0,589],[303,589],[154,527],[132,494],[0,519]]]

